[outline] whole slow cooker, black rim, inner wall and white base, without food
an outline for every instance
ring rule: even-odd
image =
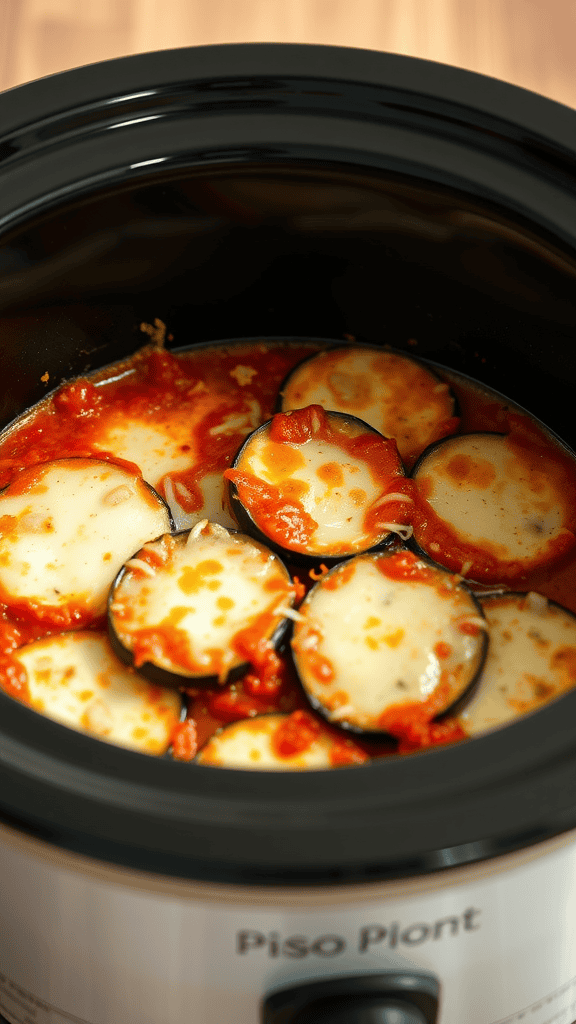
[[[574,443],[573,111],[410,57],[258,44],[35,82],[0,124],[3,423],[160,318],[179,346],[414,350]],[[10,1024],[576,1021],[576,692],[467,742],[294,773],[0,706]]]

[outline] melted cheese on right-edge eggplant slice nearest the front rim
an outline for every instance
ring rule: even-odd
[[[461,713],[470,735],[506,725],[576,686],[576,616],[539,594],[482,599],[490,648]]]

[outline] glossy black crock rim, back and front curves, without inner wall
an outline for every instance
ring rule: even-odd
[[[5,93],[0,123],[3,230],[159,165],[305,159],[463,188],[574,249],[576,114],[410,57],[272,44],[145,54]],[[382,879],[576,826],[576,692],[461,744],[301,774],[156,760],[2,693],[0,705],[4,820],[147,870],[271,884]]]

